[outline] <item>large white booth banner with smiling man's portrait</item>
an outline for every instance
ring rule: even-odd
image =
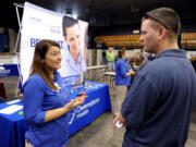
[[[77,76],[81,82],[87,63],[87,22],[25,2],[22,26],[20,64],[23,84],[29,76],[35,46],[41,39],[52,39],[60,45],[61,76]]]

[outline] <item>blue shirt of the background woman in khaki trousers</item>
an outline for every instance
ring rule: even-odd
[[[126,76],[128,66],[124,59],[119,59],[115,63],[115,86],[124,85],[130,86],[131,76]]]

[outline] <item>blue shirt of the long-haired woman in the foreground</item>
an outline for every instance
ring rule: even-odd
[[[29,126],[25,138],[35,147],[64,147],[69,142],[68,114],[45,123],[47,110],[64,107],[70,101],[69,88],[62,87],[57,71],[54,76],[53,82],[60,86],[58,91],[38,74],[32,75],[24,85],[24,118]]]

